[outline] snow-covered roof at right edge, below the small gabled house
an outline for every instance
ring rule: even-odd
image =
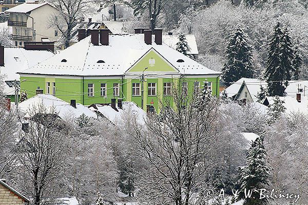
[[[308,98],[307,96],[301,95],[301,102],[299,103],[296,99],[296,96],[284,96],[279,97],[284,101],[283,106],[286,108],[286,113],[290,114],[293,112],[302,112],[308,114]],[[274,103],[275,97],[266,97],[269,105]]]

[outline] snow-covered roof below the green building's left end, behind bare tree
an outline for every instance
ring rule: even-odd
[[[18,104],[18,108],[27,116],[27,111],[38,105],[44,105],[47,111],[54,109],[61,118],[68,116],[79,117],[82,114],[85,114],[88,117],[97,118],[97,115],[86,106],[76,104],[76,108],[74,108],[66,101],[47,94],[35,95]]]

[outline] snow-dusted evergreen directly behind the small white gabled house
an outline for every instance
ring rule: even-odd
[[[230,36],[226,47],[226,62],[222,68],[222,79],[229,84],[241,77],[253,77],[252,46],[248,44],[248,36],[238,27]]]

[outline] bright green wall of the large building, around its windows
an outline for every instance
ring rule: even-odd
[[[52,90],[52,82],[56,84],[56,97],[63,99],[69,102],[71,99],[76,99],[77,103],[84,105],[91,104],[104,104],[110,103],[111,98],[123,98],[123,101],[133,101],[139,107],[141,107],[141,96],[132,96],[132,83],[140,83],[139,78],[137,79],[122,79],[124,77],[118,76],[112,79],[83,79],[82,77],[78,78],[57,78],[57,77],[25,77],[21,76],[21,81],[25,80],[21,84],[22,91],[26,90],[28,92],[28,97],[35,95],[35,90],[37,87],[40,87],[44,90],[46,94],[46,83],[50,82]],[[153,105],[156,110],[158,110],[158,99],[163,97],[164,101],[170,99],[170,96],[163,96],[163,83],[171,82],[172,85],[179,84],[179,81],[186,81],[188,83],[188,92],[194,90],[194,81],[201,82],[201,87],[204,85],[204,81],[210,81],[212,84],[213,95],[219,95],[219,78],[209,77],[209,78],[192,78],[185,77],[179,80],[178,78],[147,78],[145,75],[144,83],[144,105],[143,108],[146,110],[147,105]],[[218,80],[218,81],[217,81]],[[94,96],[88,97],[88,84],[94,84]],[[101,83],[107,84],[107,97],[102,97]],[[113,96],[113,83],[119,83],[120,85],[120,96]],[[156,83],[157,95],[148,96],[148,83]],[[140,91],[141,93],[141,91]],[[173,106],[171,102],[171,106]]]

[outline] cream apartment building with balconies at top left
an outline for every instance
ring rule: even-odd
[[[25,42],[49,42],[60,37],[58,30],[49,28],[49,19],[57,9],[49,3],[24,3],[8,9],[8,26],[12,27],[13,44],[24,47]]]

